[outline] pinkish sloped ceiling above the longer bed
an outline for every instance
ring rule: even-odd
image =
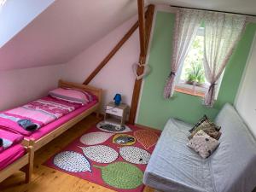
[[[56,0],[0,49],[0,70],[65,63],[136,14],[135,0]]]

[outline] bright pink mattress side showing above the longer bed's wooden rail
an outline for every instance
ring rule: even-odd
[[[29,137],[25,137],[25,138],[38,140],[39,138],[47,135],[49,132],[54,131],[59,126],[65,124],[70,119],[73,119],[74,117],[78,116],[80,113],[84,113],[84,111],[88,110],[89,108],[92,108],[93,106],[96,105],[96,103],[97,103],[96,100],[93,102],[90,102],[87,105],[84,105],[81,108],[78,108],[78,109],[74,110],[73,112],[68,113],[67,115],[61,117],[60,119],[57,119],[57,120],[49,123],[48,125],[45,125],[44,127],[40,128],[39,130],[34,131],[32,133],[32,135],[30,135]]]

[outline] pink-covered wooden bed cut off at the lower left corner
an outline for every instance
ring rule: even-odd
[[[0,137],[8,143],[0,149],[0,182],[20,170],[26,172],[26,183],[29,183],[33,167],[32,147],[21,145],[23,137],[9,131],[0,130]]]

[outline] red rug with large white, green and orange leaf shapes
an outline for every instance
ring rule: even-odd
[[[120,129],[99,123],[44,165],[119,192],[141,192],[143,172],[160,137],[129,125]]]

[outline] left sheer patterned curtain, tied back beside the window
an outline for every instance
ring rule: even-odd
[[[166,79],[164,97],[173,95],[175,75],[185,59],[198,28],[201,26],[203,11],[195,9],[178,9],[175,20],[171,73]]]

